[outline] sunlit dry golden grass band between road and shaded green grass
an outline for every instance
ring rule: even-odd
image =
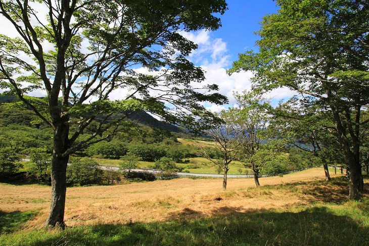
[[[306,205],[319,199],[333,199],[333,194],[347,197],[346,190],[331,190],[329,183],[321,190],[304,187],[304,182],[324,179],[322,168],[312,168],[284,177],[260,178],[261,185],[299,182],[296,191],[252,188],[255,187],[253,179],[228,179],[226,191],[221,190],[221,179],[189,178],[70,187],[67,188],[65,222],[68,226],[77,226],[198,218]],[[329,194],[324,193],[327,191]],[[29,226],[41,227],[48,216],[50,196],[48,186],[0,184],[0,209],[5,212],[39,210],[39,216]]]

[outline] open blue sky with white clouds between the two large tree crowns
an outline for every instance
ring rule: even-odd
[[[199,44],[189,59],[206,71],[206,83],[216,83],[219,92],[226,95],[229,105],[205,105],[212,111],[220,111],[235,103],[233,91],[242,92],[251,89],[251,72],[240,72],[228,76],[226,70],[238,60],[238,54],[249,50],[257,50],[255,41],[259,36],[262,17],[278,12],[278,7],[271,0],[241,1],[228,0],[228,10],[220,16],[222,26],[212,32],[197,31],[182,33],[190,40]],[[291,97],[293,94],[285,88],[276,89],[270,96],[274,102]]]

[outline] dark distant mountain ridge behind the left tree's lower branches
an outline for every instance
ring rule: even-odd
[[[16,95],[2,95],[0,96],[0,105],[4,103],[12,103],[18,100],[19,99]],[[124,114],[124,113],[122,112],[121,114]],[[127,120],[135,122],[137,124],[150,126],[150,127],[162,128],[162,129],[165,129],[171,132],[176,132],[176,133],[186,132],[186,130],[178,126],[155,119],[152,115],[146,113],[145,111],[134,112],[127,117]]]

